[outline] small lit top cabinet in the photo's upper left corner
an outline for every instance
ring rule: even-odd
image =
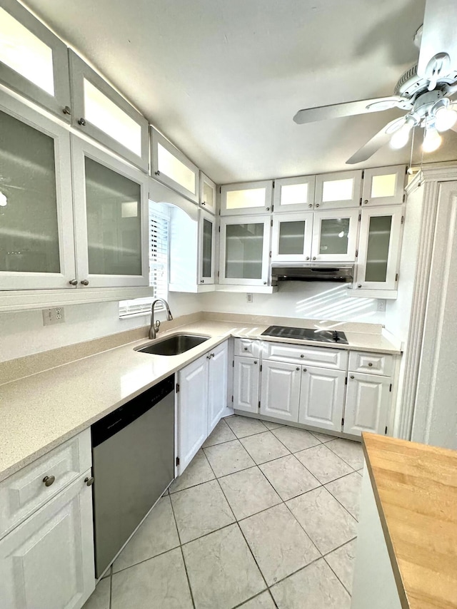
[[[16,0],[0,7],[0,81],[70,120],[66,45]]]

